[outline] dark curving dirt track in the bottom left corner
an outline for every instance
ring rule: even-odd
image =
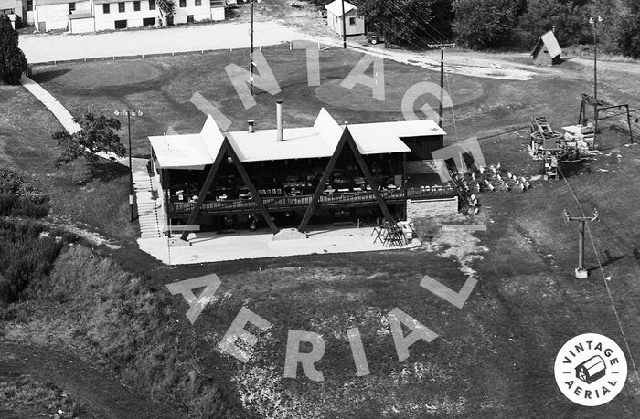
[[[178,418],[183,414],[123,387],[85,361],[44,346],[0,343],[0,377],[31,374],[52,382],[100,418]]]

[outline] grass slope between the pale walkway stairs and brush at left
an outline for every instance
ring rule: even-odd
[[[129,176],[125,167],[100,162],[91,172],[84,161],[55,168],[60,149],[51,133],[58,120],[26,89],[0,86],[0,165],[25,173],[51,197],[51,217],[63,225],[115,239],[139,235],[129,219]]]

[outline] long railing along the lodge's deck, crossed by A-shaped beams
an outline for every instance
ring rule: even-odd
[[[440,189],[421,189],[421,188],[409,188],[409,189],[385,189],[380,191],[380,195],[387,203],[401,202],[406,199],[429,199],[429,198],[446,198],[457,195],[457,190],[451,187],[444,187]],[[313,195],[282,195],[262,196],[262,202],[264,202],[267,209],[295,209],[306,208],[311,204]],[[362,192],[346,192],[346,193],[334,193],[334,194],[322,194],[318,200],[320,206],[342,206],[342,205],[357,205],[357,204],[376,204],[376,195],[371,191]],[[190,203],[172,203],[171,214],[172,215],[184,215],[191,213],[195,202]],[[249,199],[226,199],[218,201],[207,201],[202,204],[200,213],[246,213],[246,212],[258,212],[258,205]]]

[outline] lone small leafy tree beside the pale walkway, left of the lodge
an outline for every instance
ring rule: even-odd
[[[69,134],[67,131],[54,132],[51,137],[58,141],[64,151],[56,160],[56,167],[63,163],[72,162],[80,157],[87,159],[92,164],[98,161],[99,152],[112,152],[117,157],[123,157],[126,149],[120,142],[120,137],[115,131],[120,130],[120,121],[104,115],[96,116],[91,111],[82,118],[74,118],[74,122],[80,125],[80,131]],[[112,158],[112,160],[115,160]]]

